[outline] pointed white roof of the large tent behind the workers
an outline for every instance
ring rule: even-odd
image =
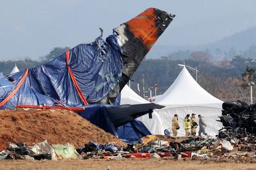
[[[189,74],[186,67],[182,68],[179,76],[155,103],[170,105],[209,105],[221,104],[223,101],[209,94]]]

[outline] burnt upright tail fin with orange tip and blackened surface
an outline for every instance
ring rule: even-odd
[[[161,11],[156,8],[148,8],[137,17],[121,24],[113,29],[122,49],[122,59],[124,67],[122,78],[118,85],[108,96],[104,97],[99,103],[113,103],[129,81],[132,74],[140,65],[141,60],[149,52],[152,46],[168,25],[172,22],[175,15]]]

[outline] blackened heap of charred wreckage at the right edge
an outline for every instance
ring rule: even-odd
[[[236,103],[223,103],[218,138],[229,141],[234,150],[254,152],[256,142],[256,104],[237,101]]]

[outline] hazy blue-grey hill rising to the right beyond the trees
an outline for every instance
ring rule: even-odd
[[[152,48],[147,55],[147,59],[155,59],[163,56],[168,56],[172,52],[177,52],[180,50],[202,50],[206,49],[211,52],[213,56],[221,56],[221,57],[232,57],[234,55],[246,55],[247,52],[244,51],[252,51],[253,46],[256,48],[256,27],[252,27],[250,29],[246,29],[241,32],[237,32],[236,34],[232,34],[231,36],[227,36],[218,41],[214,41],[205,45],[156,45]],[[252,56],[245,56],[252,57]],[[256,57],[256,49],[255,49],[255,57]]]

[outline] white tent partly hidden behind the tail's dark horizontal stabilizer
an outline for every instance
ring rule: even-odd
[[[149,103],[147,100],[140,97],[129,86],[125,85],[121,91],[120,104],[143,104]],[[152,134],[164,134],[164,129],[161,126],[161,118],[158,113],[154,111],[152,113],[152,119],[148,115],[137,118],[140,120]]]

